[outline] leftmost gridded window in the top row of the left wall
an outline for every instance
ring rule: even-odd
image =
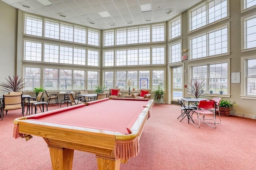
[[[42,36],[42,18],[25,15],[25,33]]]

